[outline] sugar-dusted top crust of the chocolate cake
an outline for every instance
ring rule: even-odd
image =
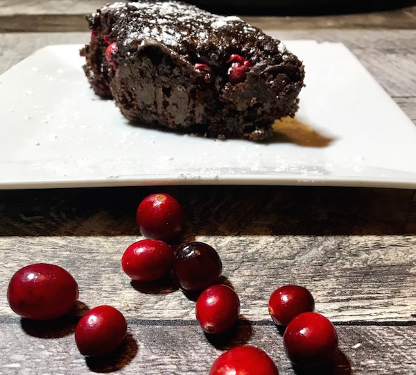
[[[118,47],[144,46],[162,42],[166,47],[189,59],[189,53],[209,60],[221,60],[230,53],[244,53],[256,60],[256,51],[279,55],[284,60],[291,55],[282,42],[265,35],[236,16],[214,15],[180,1],[134,1],[107,4],[88,17],[94,28],[97,19],[108,23]],[[215,51],[214,47],[215,46]],[[233,52],[234,51],[234,52]],[[265,56],[263,56],[264,58]]]

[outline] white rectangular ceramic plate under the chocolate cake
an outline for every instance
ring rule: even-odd
[[[0,188],[270,184],[416,188],[416,126],[343,44],[288,41],[306,67],[266,144],[129,124],[89,88],[78,45],[0,76]]]

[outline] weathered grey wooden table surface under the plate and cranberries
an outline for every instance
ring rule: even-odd
[[[0,0],[0,74],[47,44],[89,39],[83,13],[98,1]],[[245,19],[280,39],[343,42],[416,124],[416,6],[354,15]],[[180,243],[215,247],[241,299],[225,337],[202,333],[173,278],[132,285],[121,256],[141,238],[138,203],[173,194],[187,228]],[[146,186],[0,190],[0,374],[207,374],[238,344],[266,351],[280,374],[293,369],[268,315],[270,294],[296,283],[338,331],[333,366],[319,374],[416,374],[415,190],[300,186]],[[20,319],[9,308],[12,274],[55,263],[76,278],[77,308],[58,322]],[[73,338],[88,308],[110,304],[128,338],[105,360],[85,359]]]

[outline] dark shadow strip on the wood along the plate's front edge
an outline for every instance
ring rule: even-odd
[[[0,236],[139,235],[135,210],[158,191],[182,203],[189,235],[416,234],[414,190],[218,185],[0,190]]]

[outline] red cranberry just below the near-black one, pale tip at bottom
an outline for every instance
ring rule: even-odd
[[[198,297],[195,314],[205,332],[223,333],[239,319],[239,297],[227,285],[212,285]]]

